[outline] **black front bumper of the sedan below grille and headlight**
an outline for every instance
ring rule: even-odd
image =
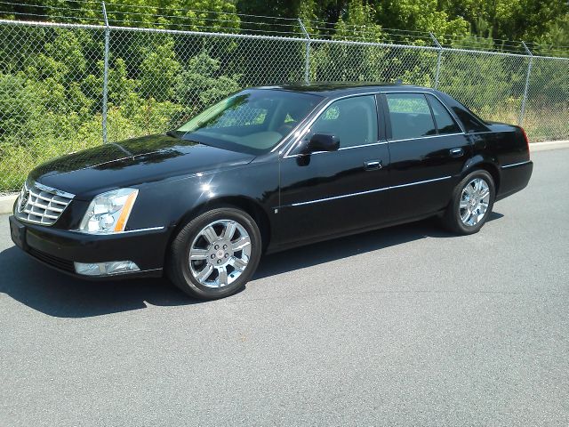
[[[39,262],[77,278],[161,277],[170,230],[134,230],[105,236],[20,222],[10,216],[12,241]],[[108,276],[76,274],[74,262],[135,262],[140,271]]]

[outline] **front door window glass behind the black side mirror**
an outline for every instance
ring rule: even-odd
[[[377,110],[373,95],[354,96],[335,101],[311,126],[312,134],[333,134],[340,148],[377,142]]]

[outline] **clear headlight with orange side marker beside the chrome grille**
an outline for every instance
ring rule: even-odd
[[[92,199],[79,230],[91,234],[124,231],[138,189],[114,189]]]

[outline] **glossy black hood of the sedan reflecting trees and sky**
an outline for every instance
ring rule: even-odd
[[[107,189],[210,173],[244,165],[254,156],[183,141],[165,134],[109,143],[39,165],[29,178],[54,189],[90,198]]]

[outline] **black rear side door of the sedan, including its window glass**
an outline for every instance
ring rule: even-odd
[[[472,147],[461,126],[430,93],[384,93],[390,154],[391,215],[445,208]]]

